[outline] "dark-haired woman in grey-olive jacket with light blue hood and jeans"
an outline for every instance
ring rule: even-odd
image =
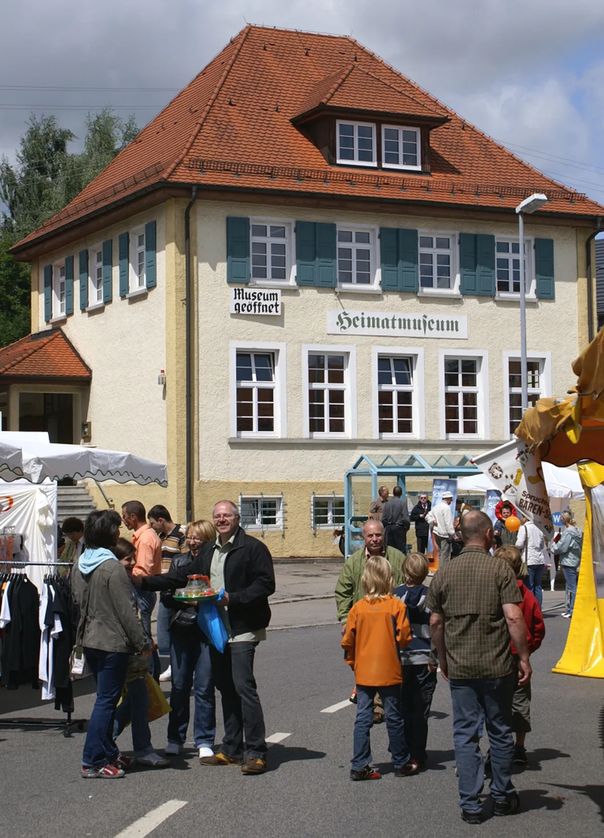
[[[151,654],[151,644],[132,608],[126,571],[111,552],[120,535],[120,516],[113,510],[91,512],[86,519],[86,549],[75,561],[71,590],[80,608],[75,644],[96,680],[96,701],[88,722],[82,755],[82,777],[124,776],[113,739],[117,702],[126,681],[128,657]]]

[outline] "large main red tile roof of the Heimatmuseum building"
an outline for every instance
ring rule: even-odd
[[[431,131],[431,177],[330,166],[292,119],[319,104],[448,117]],[[604,208],[557,184],[346,36],[246,26],[85,189],[16,250],[142,189],[166,184],[287,190],[513,209]],[[379,191],[377,191],[379,190]],[[402,209],[402,207],[401,207]]]

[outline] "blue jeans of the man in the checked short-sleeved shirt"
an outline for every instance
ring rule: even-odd
[[[478,746],[478,727],[483,713],[491,750],[491,797],[503,803],[514,794],[512,697],[515,683],[514,672],[503,678],[449,679],[459,805],[466,812],[481,810],[478,795],[484,782],[484,763]]]

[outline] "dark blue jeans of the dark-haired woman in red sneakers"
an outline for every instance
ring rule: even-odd
[[[86,661],[96,680],[96,701],[88,722],[82,765],[101,768],[113,763],[120,755],[113,740],[113,720],[117,702],[126,680],[127,652],[102,652],[84,649]]]

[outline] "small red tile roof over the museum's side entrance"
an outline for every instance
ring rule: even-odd
[[[0,378],[60,378],[84,384],[92,372],[61,329],[53,328],[0,349]]]

